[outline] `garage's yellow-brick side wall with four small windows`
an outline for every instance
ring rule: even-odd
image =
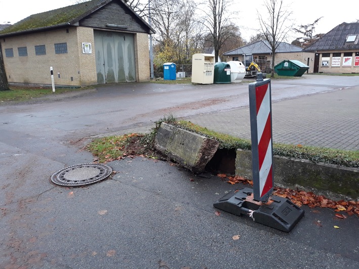
[[[67,43],[67,54],[55,54],[55,43]],[[34,46],[45,45],[46,55],[35,55]],[[3,52],[12,48],[14,57],[4,57],[9,83],[50,84],[50,67],[55,84],[80,85],[79,46],[76,27],[56,29],[20,36],[5,37]],[[19,57],[19,47],[27,47],[27,56]],[[58,76],[60,72],[60,77]],[[72,81],[71,81],[72,77]]]

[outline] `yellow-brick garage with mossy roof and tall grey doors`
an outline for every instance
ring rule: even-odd
[[[154,30],[122,0],[31,15],[0,31],[10,84],[82,86],[150,80]]]

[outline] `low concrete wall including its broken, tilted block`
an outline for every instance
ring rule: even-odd
[[[157,132],[155,147],[184,167],[200,173],[216,153],[218,143],[196,133],[162,123]],[[333,200],[359,199],[358,168],[312,163],[280,156],[274,156],[273,164],[275,184],[279,187],[311,191]],[[252,179],[250,151],[237,150],[234,170],[236,175]]]

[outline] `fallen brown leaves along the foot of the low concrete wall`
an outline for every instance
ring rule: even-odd
[[[236,184],[236,183],[243,183],[243,184],[249,184],[253,186],[253,182],[248,180],[247,178],[244,178],[242,176],[227,176],[226,174],[217,174],[223,181],[226,181],[230,184]],[[335,212],[341,212],[336,213],[335,216],[338,218],[346,218],[346,215],[342,214],[343,212],[346,212],[349,216],[351,215],[357,215],[359,216],[359,201],[333,201],[331,199],[326,198],[323,195],[316,195],[312,192],[305,192],[300,190],[292,190],[292,189],[285,189],[285,188],[279,188],[275,187],[273,190],[273,195],[280,196],[286,199],[291,200],[294,204],[301,206],[301,205],[307,205],[309,208],[313,207],[326,207],[331,208]]]

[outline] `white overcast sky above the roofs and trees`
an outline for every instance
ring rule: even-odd
[[[309,24],[323,17],[317,24],[315,33],[327,33],[342,22],[353,22],[359,19],[358,0],[339,1],[335,5],[334,2],[328,0],[284,0],[284,2],[290,5],[290,10],[293,12],[291,18],[296,25]],[[13,24],[32,14],[70,6],[74,3],[75,0],[0,0],[0,24],[8,22]],[[234,3],[236,4],[233,8],[239,11],[234,22],[241,27],[242,37],[248,41],[259,28],[257,10],[263,14],[263,17],[266,17],[262,7],[263,0],[234,0]],[[254,3],[257,5],[253,5]],[[288,39],[287,41],[291,42],[295,36],[290,36]]]

